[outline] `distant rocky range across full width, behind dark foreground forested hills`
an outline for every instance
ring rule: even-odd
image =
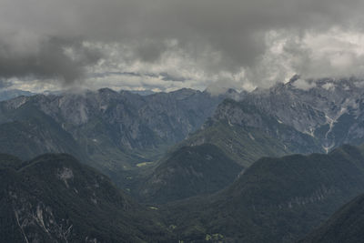
[[[0,103],[0,152],[22,159],[69,153],[136,197],[153,201],[147,198],[151,194],[142,192],[167,195],[162,185],[180,187],[162,175],[188,165],[180,157],[171,163],[171,155],[181,154],[181,147],[217,147],[227,157],[224,161],[238,165],[231,181],[260,157],[325,153],[342,144],[364,142],[364,88],[359,80],[308,80],[304,82],[314,85],[305,89],[298,88],[300,82],[295,76],[269,89],[250,93],[229,89],[220,96],[192,89],[140,96],[107,88],[19,96]],[[188,159],[199,163],[197,158]],[[211,164],[216,167],[210,171],[218,172],[217,164]],[[191,181],[196,176],[184,175]],[[144,183],[148,178],[157,183]],[[210,193],[211,188],[226,186],[211,183],[190,191]]]

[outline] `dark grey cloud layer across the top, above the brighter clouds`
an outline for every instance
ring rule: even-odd
[[[254,68],[266,52],[268,31],[359,30],[363,5],[359,0],[3,0],[0,76],[72,83],[102,57],[100,43],[128,46],[128,58],[154,63],[174,42],[204,72],[238,72]]]

